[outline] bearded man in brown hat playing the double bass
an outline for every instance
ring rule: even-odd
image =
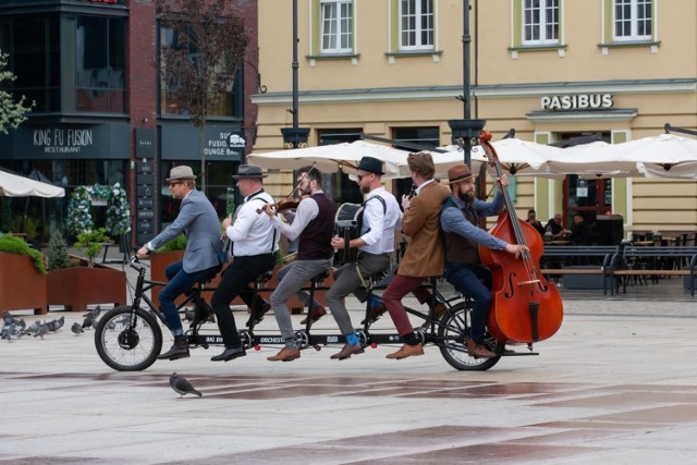
[[[479,217],[499,215],[504,208],[501,189],[493,201],[479,200],[474,196],[474,176],[466,164],[456,164],[448,170],[451,197],[443,204],[440,225],[445,242],[445,279],[457,291],[472,298],[467,353],[477,358],[490,358],[496,354],[484,345],[484,336],[493,302],[491,297],[491,270],[479,259],[478,244],[494,250],[505,250],[515,258],[528,248],[525,245],[506,244],[480,229]],[[503,174],[499,183],[506,187],[509,180]]]

